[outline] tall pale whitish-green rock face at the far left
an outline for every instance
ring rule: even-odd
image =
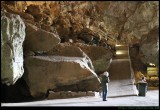
[[[1,80],[14,84],[23,75],[25,24],[19,15],[1,12]]]

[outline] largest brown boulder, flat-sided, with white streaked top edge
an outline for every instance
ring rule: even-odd
[[[99,83],[96,73],[81,57],[30,56],[25,58],[25,68],[24,79],[35,98],[45,97],[48,89],[57,86],[72,85],[90,79],[94,79],[94,84]],[[85,84],[88,90],[88,83]]]

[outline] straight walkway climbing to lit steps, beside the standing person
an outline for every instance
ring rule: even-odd
[[[108,72],[110,74],[108,97],[137,95],[127,45],[116,46],[116,55]]]

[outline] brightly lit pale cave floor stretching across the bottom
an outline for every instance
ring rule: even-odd
[[[1,106],[106,106],[106,107],[158,107],[159,106],[159,89],[149,90],[146,96],[121,96],[110,97],[107,101],[102,101],[102,98],[96,92],[95,96],[54,99],[34,102],[22,103],[1,103]]]

